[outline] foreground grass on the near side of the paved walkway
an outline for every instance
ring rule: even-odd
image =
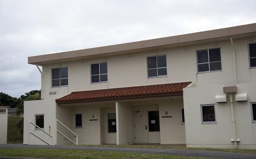
[[[0,156],[44,159],[210,159],[201,157],[76,149],[0,149]]]

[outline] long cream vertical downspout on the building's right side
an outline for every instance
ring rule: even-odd
[[[235,49],[234,49],[234,43],[233,38],[230,37],[232,52],[233,52],[233,63],[234,63],[234,79],[235,79],[235,86],[237,85],[236,81],[236,65],[235,65]],[[237,141],[236,141],[236,132],[235,132],[235,117],[234,117],[234,106],[233,106],[233,93],[229,93],[230,96],[230,108],[231,108],[231,118],[232,118],[232,127],[233,127],[233,136],[234,136],[234,144],[235,149],[237,149]]]

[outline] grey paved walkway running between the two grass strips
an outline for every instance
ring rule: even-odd
[[[135,153],[166,154],[191,157],[209,157],[220,159],[256,159],[256,154],[242,154],[232,152],[205,151],[192,149],[162,149],[162,148],[123,148],[123,147],[94,147],[94,146],[48,146],[48,145],[23,145],[23,144],[0,144],[0,149],[9,148],[33,148],[33,149],[87,149],[101,151],[124,151]]]

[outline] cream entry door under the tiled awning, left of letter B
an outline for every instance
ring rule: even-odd
[[[135,112],[135,143],[148,143],[148,112]]]

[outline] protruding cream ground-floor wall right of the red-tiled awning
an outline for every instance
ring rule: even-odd
[[[234,101],[236,138],[239,149],[256,148],[256,123],[252,123],[250,102],[256,101],[256,83],[238,84],[238,93],[248,93],[248,101]],[[215,103],[223,95],[223,86],[184,89],[186,144],[188,147],[234,148],[229,95],[227,102]],[[234,96],[234,95],[233,95]],[[235,100],[235,97],[233,97]],[[216,124],[202,124],[201,104],[215,104]]]

